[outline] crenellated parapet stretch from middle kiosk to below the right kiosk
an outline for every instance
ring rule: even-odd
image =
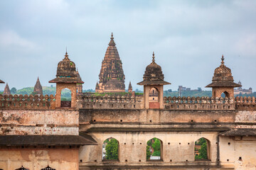
[[[223,97],[164,97],[168,110],[234,110],[234,98]]]

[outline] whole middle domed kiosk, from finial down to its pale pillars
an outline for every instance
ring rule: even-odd
[[[164,108],[164,85],[170,84],[164,81],[161,67],[156,64],[154,58],[153,52],[152,62],[146,67],[143,81],[138,83],[144,86],[144,108]],[[157,96],[152,96],[152,93]]]

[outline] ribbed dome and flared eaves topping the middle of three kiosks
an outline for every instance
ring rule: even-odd
[[[159,64],[156,64],[154,60],[154,52],[152,57],[152,62],[146,67],[145,74],[143,76],[143,81],[139,82],[139,85],[150,85],[150,84],[170,84],[164,81],[164,74],[161,71]]]

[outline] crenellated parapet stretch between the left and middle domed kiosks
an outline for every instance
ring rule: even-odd
[[[78,96],[78,108],[142,108],[142,96]]]

